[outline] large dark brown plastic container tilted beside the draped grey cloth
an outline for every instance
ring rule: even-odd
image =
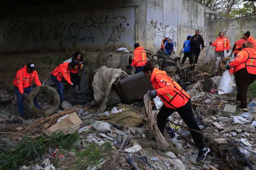
[[[121,100],[131,102],[144,96],[148,90],[153,90],[151,81],[141,71],[130,77],[121,79],[117,84]]]

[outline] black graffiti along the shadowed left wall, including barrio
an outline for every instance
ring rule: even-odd
[[[54,18],[52,18],[54,20]],[[134,23],[134,21],[132,21]],[[0,22],[1,23],[1,22]],[[61,21],[56,25],[40,25],[41,21],[10,21],[0,25],[0,44],[4,41],[15,42],[47,42],[65,40],[72,46],[93,43],[95,36],[104,37],[107,43],[120,42],[122,36],[130,34],[134,24],[129,23],[124,15],[109,16],[106,14],[87,14],[81,22]],[[132,25],[130,25],[132,24]],[[129,26],[130,25],[130,26]],[[93,44],[92,44],[93,45]]]

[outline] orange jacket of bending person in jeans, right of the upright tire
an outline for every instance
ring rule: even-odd
[[[68,62],[67,62],[67,63],[60,64],[50,74],[52,74],[53,76],[56,76],[58,81],[61,81],[62,78],[64,78],[68,82],[68,84],[71,85],[72,82],[70,80],[69,73],[70,71],[68,70]]]

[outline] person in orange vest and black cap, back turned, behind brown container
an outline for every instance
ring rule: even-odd
[[[132,64],[130,66],[126,66],[126,68],[129,69],[129,68],[135,66],[134,74],[136,74],[136,73],[143,71],[144,65],[146,63],[147,63],[146,51],[143,50],[143,47],[140,46],[139,43],[135,43]]]

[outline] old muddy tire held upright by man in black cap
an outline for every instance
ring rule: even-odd
[[[51,106],[46,110],[38,109],[34,104],[35,96],[41,92],[47,92],[51,94],[53,98]],[[49,116],[49,115],[52,115],[58,109],[60,105],[60,96],[58,92],[51,86],[48,86],[48,85],[37,86],[28,94],[27,105],[28,105],[29,111],[32,112],[33,115],[36,115],[38,117]]]

